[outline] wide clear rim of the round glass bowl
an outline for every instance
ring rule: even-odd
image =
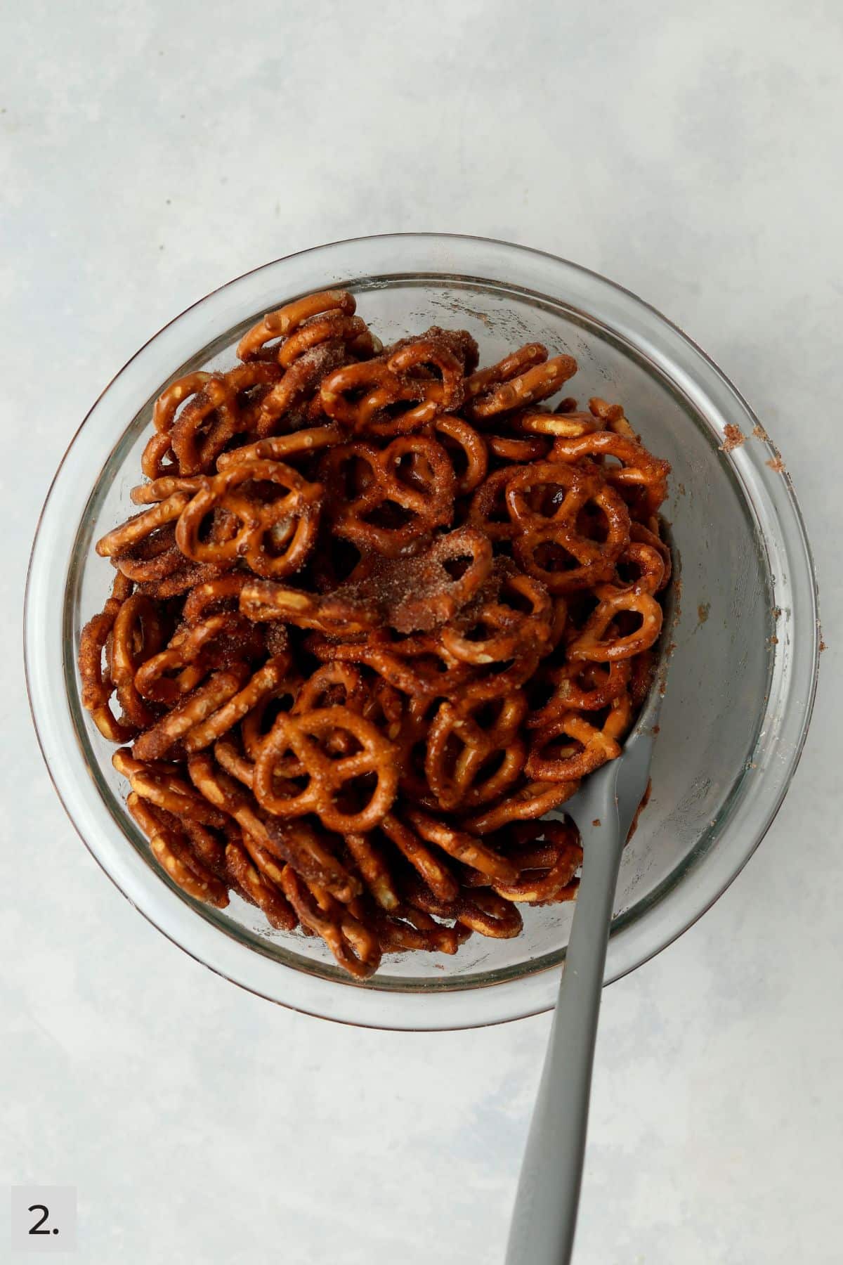
[[[452,267],[442,271],[432,264],[402,267],[398,272],[379,268],[375,259],[378,252],[385,257],[393,250],[404,254],[417,250],[420,263],[428,256],[432,259],[436,256],[449,259],[456,254],[459,271]],[[310,285],[293,285],[284,290],[283,273],[287,268],[298,267],[301,272],[302,264],[305,271],[312,264],[318,269],[317,261],[324,261],[324,268],[321,273],[313,273]],[[474,264],[475,271],[469,264]],[[63,481],[70,477],[75,447],[106,396],[133,373],[133,367],[143,357],[149,355],[153,344],[200,312],[205,318],[211,316],[215,309],[225,306],[226,296],[239,290],[248,292],[253,281],[269,273],[279,275],[279,301],[286,295],[363,277],[385,278],[399,275],[428,280],[441,277],[442,281],[458,277],[489,282],[506,280],[517,288],[530,290],[531,287],[525,286],[523,273],[540,275],[542,280],[547,275],[550,283],[543,282],[540,292],[556,296],[566,306],[576,309],[575,304],[569,304],[567,296],[585,291],[589,302],[579,310],[632,343],[638,355],[646,355],[658,374],[679,385],[698,407],[704,406],[707,421],[722,434],[727,423],[737,423],[744,433],[753,429],[756,434],[765,433],[747,402],[710,357],[655,307],[599,273],[545,252],[488,238],[437,233],[380,234],[312,247],[272,261],[226,282],[185,309],[153,335],[111,379],[76,431],[51,483],[33,543],[24,602],[24,659],[29,703],[42,754],[59,799],[88,851],[123,894],[168,939],[210,969],[259,996],[310,1015],[370,1027],[444,1030],[506,1022],[538,1013],[554,1004],[559,978],[556,969],[533,973],[526,970],[519,979],[488,987],[466,984],[466,988],[451,992],[382,992],[369,985],[336,983],[284,966],[220,934],[196,917],[179,897],[154,878],[152,870],[148,870],[152,878],[149,882],[144,880],[143,870],[125,864],[129,845],[124,840],[115,840],[112,832],[104,830],[101,824],[92,824],[95,805],[91,797],[99,799],[99,796],[81,754],[75,748],[62,750],[61,734],[53,732],[57,720],[59,730],[62,727],[62,701],[49,697],[51,684],[54,686],[56,682],[54,663],[44,654],[44,646],[51,643],[49,636],[43,636],[42,632],[44,622],[52,622],[54,634],[56,622],[61,626],[63,619],[62,615],[56,615],[49,602],[51,592],[56,592],[52,586],[57,578],[57,563],[61,572],[61,559],[51,557],[48,536],[61,507],[58,493]],[[259,306],[257,304],[255,311]],[[161,381],[172,376],[172,372],[173,366],[167,366]],[[776,665],[779,670],[773,673],[781,705],[773,744],[779,759],[766,763],[765,775],[756,782],[751,802],[743,797],[717,846],[709,850],[704,864],[695,870],[693,882],[680,882],[640,920],[640,923],[645,920],[648,923],[646,944],[641,942],[641,930],[633,936],[629,935],[629,929],[613,930],[604,983],[621,978],[666,947],[725,891],[770,827],[801,755],[819,667],[816,581],[790,478],[786,473],[773,473],[766,464],[767,459],[777,455],[766,439],[743,445],[736,454],[729,454],[738,467],[741,487],[756,515],[758,498],[767,506],[763,521],[768,531],[763,543],[767,549],[775,550],[775,557],[768,558],[768,563],[771,569],[784,564],[789,592],[792,595],[792,636],[784,660]],[[779,528],[779,533],[770,530],[771,528]],[[63,584],[61,591],[64,591]],[[768,707],[771,706],[772,702],[768,702]],[[67,708],[66,698],[63,707]],[[729,841],[729,846],[725,846]],[[560,953],[560,961],[562,956],[564,950]]]

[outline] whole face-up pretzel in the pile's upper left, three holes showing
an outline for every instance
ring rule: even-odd
[[[267,501],[250,496],[248,484],[259,483],[272,483],[286,490],[286,495]],[[321,498],[320,484],[310,483],[291,466],[244,462],[209,479],[183,507],[176,543],[195,562],[219,564],[243,558],[258,576],[288,576],[311,550]],[[205,543],[202,524],[217,507],[234,515],[241,526],[230,540]]]

